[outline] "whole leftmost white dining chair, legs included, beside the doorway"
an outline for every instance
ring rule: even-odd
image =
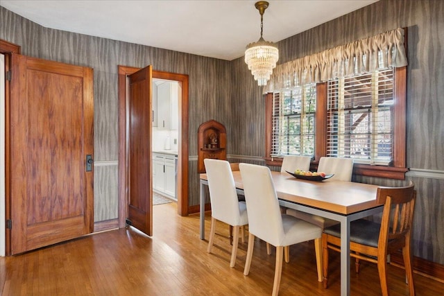
[[[230,267],[234,267],[239,243],[239,227],[248,224],[246,203],[239,202],[230,163],[219,159],[204,159],[211,202],[211,230],[207,252],[211,253],[216,232],[216,220],[233,227]]]

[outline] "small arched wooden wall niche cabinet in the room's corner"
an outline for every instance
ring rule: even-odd
[[[203,159],[227,159],[225,126],[214,120],[202,123],[198,130],[198,173],[205,173]]]

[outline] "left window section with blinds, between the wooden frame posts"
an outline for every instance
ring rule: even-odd
[[[316,85],[273,94],[271,155],[314,156]]]

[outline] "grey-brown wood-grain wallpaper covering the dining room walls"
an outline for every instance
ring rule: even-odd
[[[407,173],[405,181],[355,176],[357,182],[418,190],[413,252],[444,264],[444,1],[380,0],[278,42],[288,62],[334,46],[407,27]],[[39,26],[0,7],[0,38],[24,55],[94,68],[96,160],[117,160],[117,65],[189,75],[189,205],[198,204],[197,130],[214,119],[227,128],[232,162],[264,164],[264,97],[244,57],[231,62],[129,44]],[[117,166],[95,168],[96,221],[112,217],[117,204]],[[276,169],[277,168],[272,168]],[[115,195],[115,197],[114,197]]]

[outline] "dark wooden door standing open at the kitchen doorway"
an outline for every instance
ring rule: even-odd
[[[128,218],[127,223],[153,235],[152,67],[128,76]]]

